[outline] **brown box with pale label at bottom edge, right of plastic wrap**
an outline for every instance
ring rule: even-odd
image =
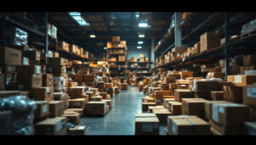
[[[67,117],[55,117],[38,122],[35,135],[67,135]]]

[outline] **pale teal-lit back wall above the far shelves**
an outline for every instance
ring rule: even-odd
[[[131,59],[132,57],[134,58],[139,58],[140,54],[144,54],[145,57],[149,57],[151,54],[150,52],[150,46],[143,46],[141,49],[137,49],[136,46],[127,46],[128,51],[127,51],[127,59]]]

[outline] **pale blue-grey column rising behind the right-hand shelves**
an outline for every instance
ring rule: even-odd
[[[176,12],[174,20],[175,70],[177,70],[177,47],[182,46],[182,31],[180,29],[181,13]]]

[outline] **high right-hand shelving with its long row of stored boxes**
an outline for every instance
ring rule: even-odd
[[[224,65],[220,68],[221,72],[225,76],[237,75],[241,66],[237,65],[235,68],[235,65],[230,63],[241,57],[241,54],[256,53],[253,49],[256,40],[255,30],[242,32],[246,30],[247,23],[253,23],[252,20],[256,18],[255,13],[189,13],[186,16],[183,14],[173,14],[172,24],[175,25],[171,25],[169,31],[154,48],[157,58],[156,68],[193,70],[195,65],[199,67],[198,64],[218,65],[220,60],[224,60]],[[218,34],[216,38],[218,44],[206,50],[193,52],[195,45],[202,42],[203,35],[208,35],[207,32]],[[204,45],[206,44],[202,44]],[[178,47],[181,46],[185,53],[178,52]],[[195,75],[205,76],[207,71],[199,71]]]

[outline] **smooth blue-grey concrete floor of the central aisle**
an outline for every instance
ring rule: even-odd
[[[113,108],[104,117],[83,117],[79,125],[86,125],[87,135],[134,135],[135,114],[142,113],[143,92],[129,86],[112,99]],[[160,125],[160,135],[165,135],[166,125]]]

